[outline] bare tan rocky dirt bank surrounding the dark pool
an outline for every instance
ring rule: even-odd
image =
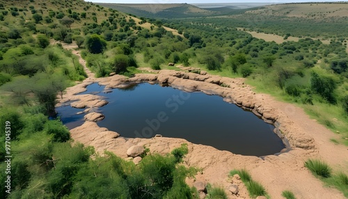
[[[70,131],[74,141],[93,145],[97,152],[109,150],[125,158],[127,149],[132,145],[145,145],[150,148],[150,152],[165,154],[179,147],[181,143],[188,143],[189,154],[184,159],[185,164],[203,168],[203,174],[198,174],[197,180],[223,186],[226,188],[226,193],[229,193],[230,185],[230,182],[227,182],[228,172],[234,168],[246,168],[250,170],[256,181],[265,186],[272,198],[281,198],[281,192],[285,189],[292,190],[296,198],[345,198],[339,191],[324,187],[320,180],[304,168],[303,161],[308,157],[317,157],[343,170],[348,167],[347,147],[331,143],[329,139],[334,135],[322,125],[310,120],[302,109],[292,104],[278,102],[269,95],[254,93],[251,86],[244,83],[244,79],[171,70],[162,70],[159,74],[136,74],[132,78],[115,75],[101,79],[87,79],[84,83],[68,88],[61,103],[78,100],[74,102],[74,105],[84,107],[88,112],[93,112],[97,106],[103,106],[104,103],[101,103],[103,100],[99,97],[74,95],[84,91],[85,87],[93,81],[106,85],[106,89],[124,87],[128,83],[149,81],[166,83],[181,90],[201,90],[209,95],[221,95],[227,102],[248,107],[255,113],[260,113],[265,120],[275,121],[275,125],[279,127],[292,148],[290,152],[278,156],[269,155],[259,158],[232,154],[178,138],[126,139],[90,121]],[[192,184],[193,180],[188,182]],[[248,198],[245,188],[240,186],[239,189],[241,189],[239,196],[230,194],[229,197]]]

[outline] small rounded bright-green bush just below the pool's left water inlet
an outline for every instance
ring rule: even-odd
[[[65,142],[70,139],[70,132],[59,120],[49,120],[45,124],[45,132],[53,135],[54,142]]]

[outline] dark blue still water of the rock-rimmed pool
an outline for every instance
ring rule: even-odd
[[[235,154],[262,156],[280,152],[285,145],[267,124],[250,111],[223,101],[216,95],[187,93],[171,87],[141,83],[127,89],[102,93],[104,86],[93,83],[85,93],[98,93],[109,104],[98,109],[104,120],[100,127],[121,136],[151,138],[155,134],[184,138]],[[68,127],[78,126],[84,109],[58,109]],[[80,118],[80,119],[79,119]]]

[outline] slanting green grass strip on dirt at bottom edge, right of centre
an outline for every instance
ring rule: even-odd
[[[262,184],[255,182],[251,178],[251,175],[248,173],[247,170],[235,169],[230,171],[230,177],[232,177],[235,174],[238,174],[239,177],[241,177],[242,181],[244,182],[246,186],[246,189],[248,189],[248,193],[249,193],[249,196],[251,196],[251,198],[256,198],[258,196],[266,196],[267,198],[269,198],[267,195],[266,189],[264,189]]]

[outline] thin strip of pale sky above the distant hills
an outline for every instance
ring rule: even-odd
[[[214,2],[214,0],[85,0],[85,1],[91,1],[94,3],[196,3],[196,4],[216,3]],[[290,3],[290,2],[309,2],[309,1],[311,0],[218,0],[217,3]],[[324,0],[324,1],[333,1],[333,0]],[[315,2],[322,2],[322,1],[315,0]]]

